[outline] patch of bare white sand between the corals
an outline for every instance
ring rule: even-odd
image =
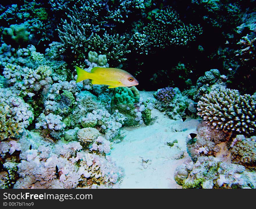
[[[156,109],[152,115],[157,117],[153,125],[126,127],[126,137],[113,144],[110,156],[125,172],[120,188],[182,188],[175,182],[174,172],[190,158],[186,137],[195,132],[199,121],[171,120]],[[175,139],[178,143],[167,145]]]

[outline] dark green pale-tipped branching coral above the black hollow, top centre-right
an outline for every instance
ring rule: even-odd
[[[152,47],[187,45],[195,40],[196,35],[202,33],[199,25],[185,25],[171,7],[160,10],[154,17],[143,28],[143,32],[134,34],[133,43],[140,54],[147,54]]]

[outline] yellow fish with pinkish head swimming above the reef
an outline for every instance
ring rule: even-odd
[[[77,82],[85,79],[91,79],[92,84],[109,85],[109,88],[115,88],[118,86],[136,86],[139,82],[125,70],[118,68],[100,68],[95,67],[91,72],[75,66],[77,70]]]

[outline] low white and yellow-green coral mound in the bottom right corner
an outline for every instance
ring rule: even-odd
[[[198,157],[176,168],[175,180],[183,188],[255,188],[255,174],[241,165]]]

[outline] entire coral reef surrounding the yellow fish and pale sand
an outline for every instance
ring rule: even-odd
[[[196,135],[164,142],[175,159],[187,148],[183,188],[255,188],[254,3],[1,3],[0,188],[117,188],[112,146],[157,117],[177,120],[164,132]],[[74,66],[121,68],[140,85],[76,83]]]

